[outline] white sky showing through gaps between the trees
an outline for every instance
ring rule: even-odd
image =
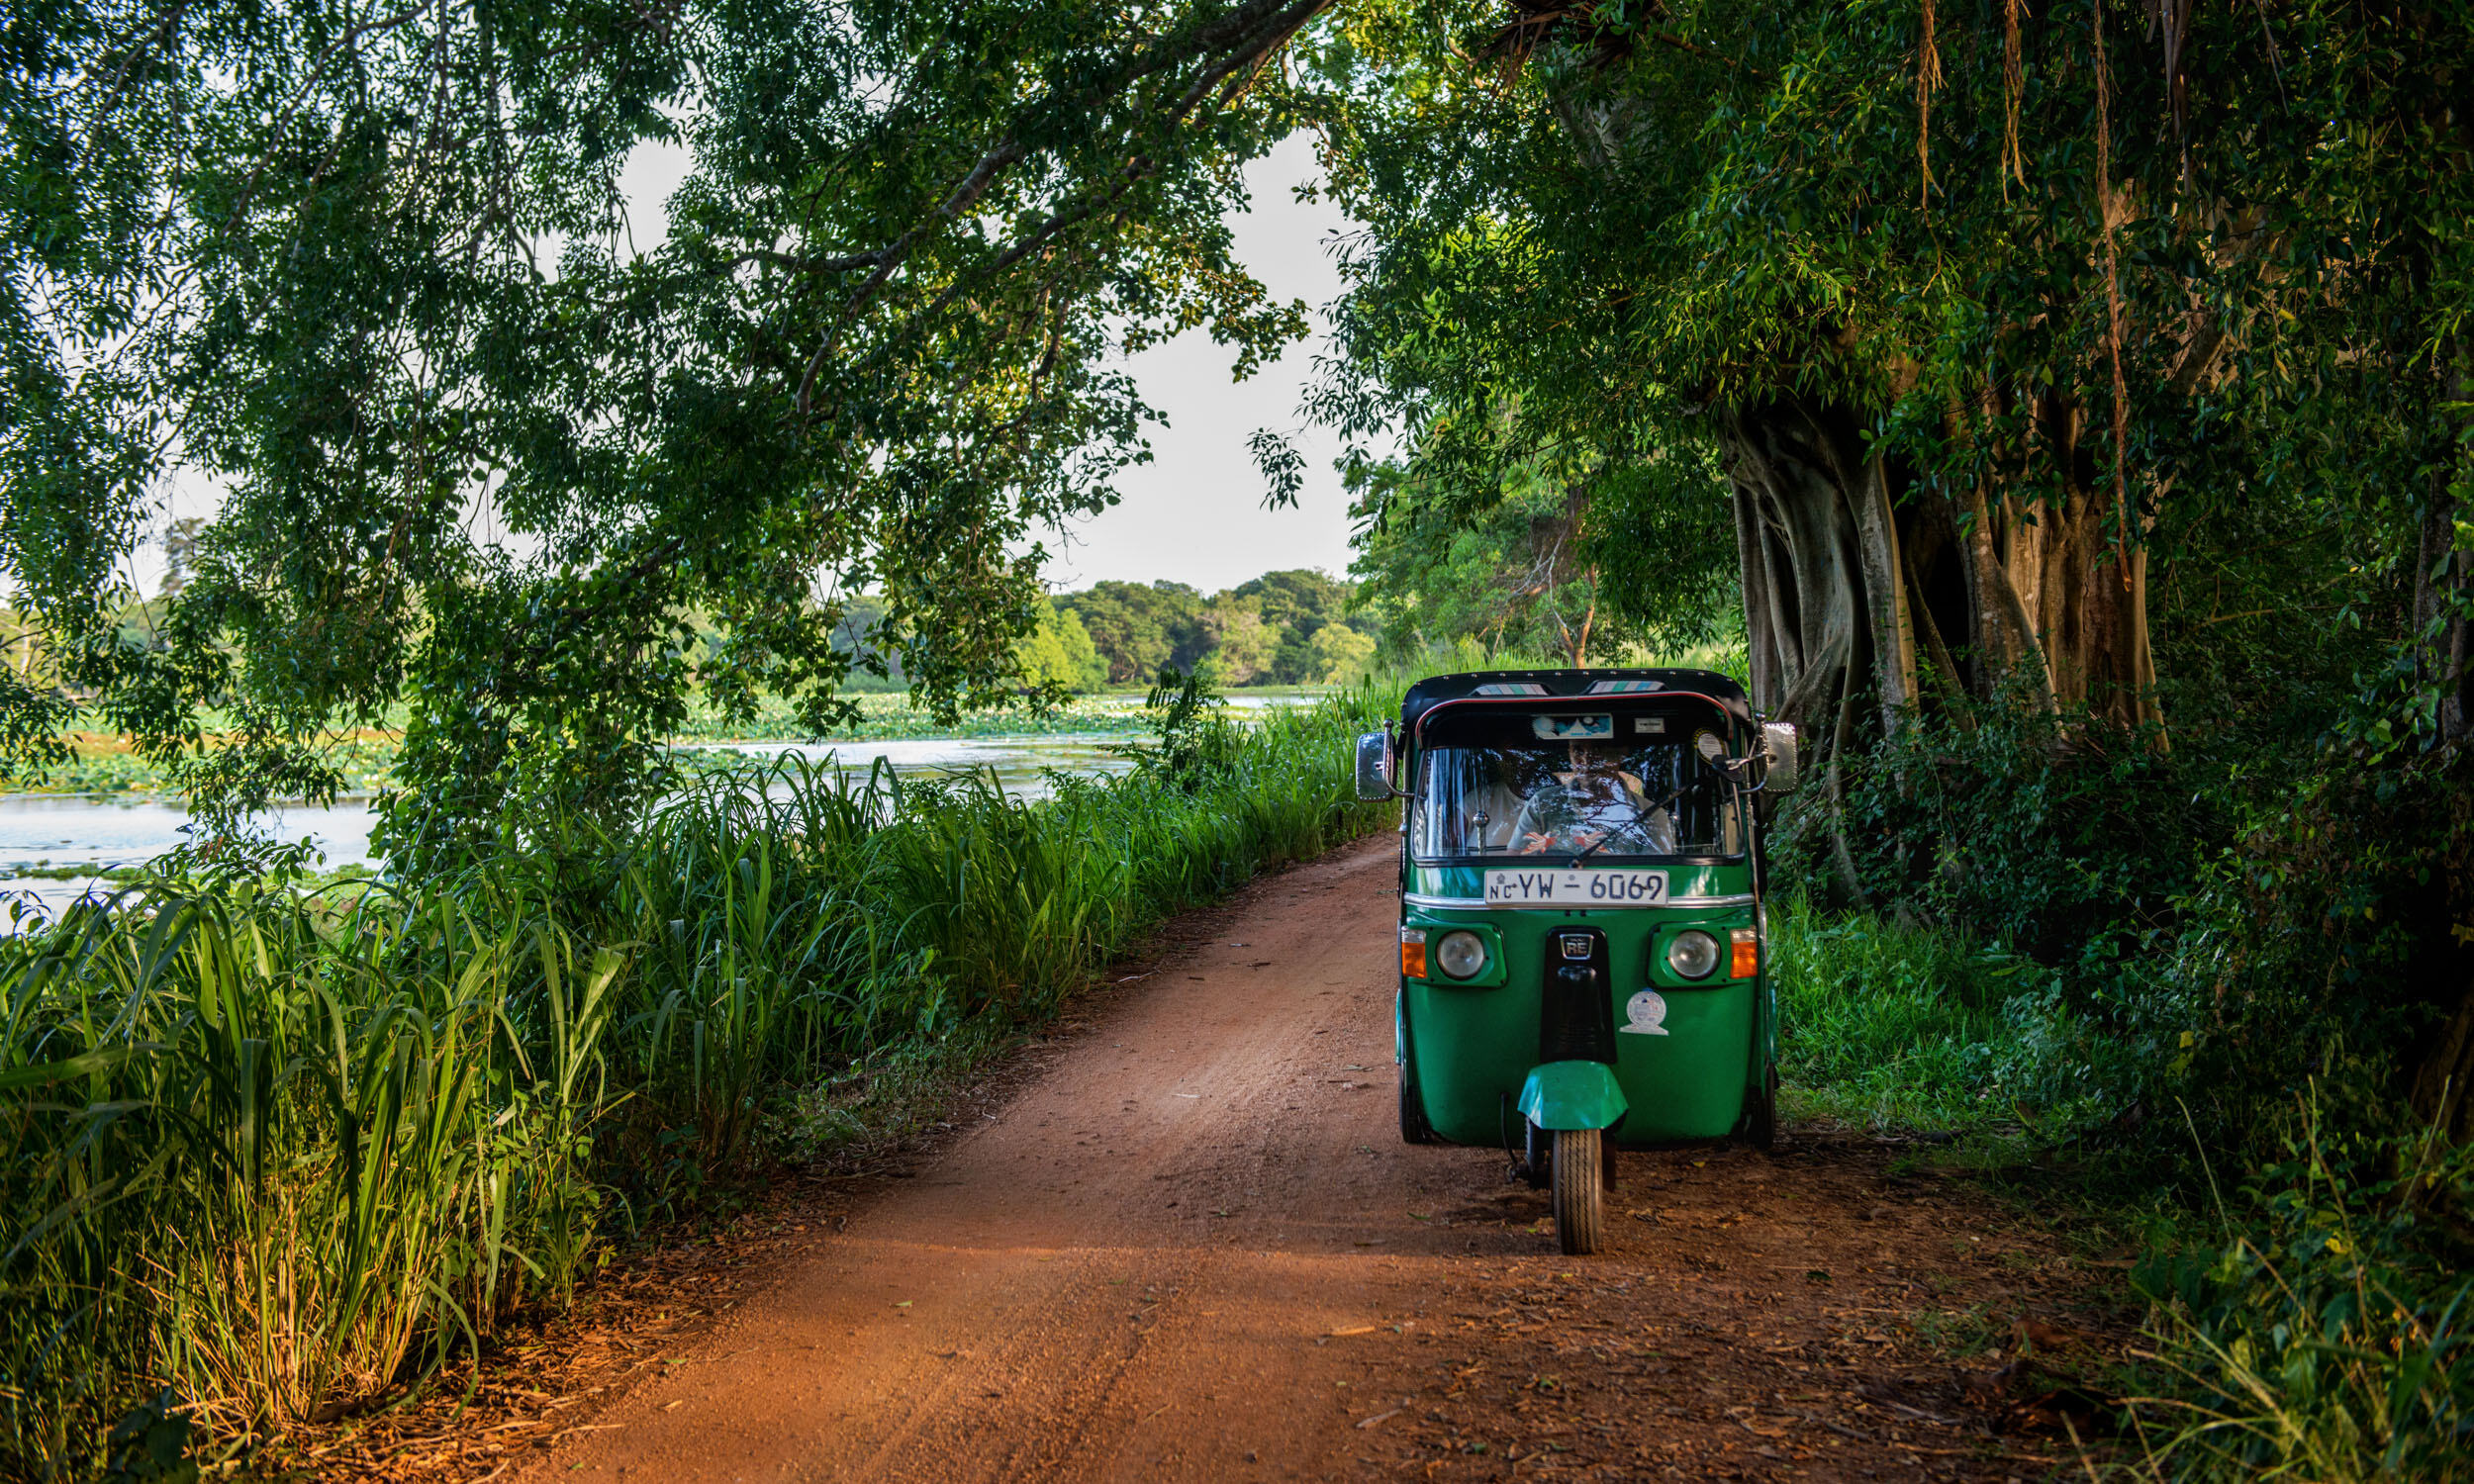
[[[683,151],[641,146],[621,181],[628,200],[663,203],[683,173]],[[1272,299],[1304,299],[1316,312],[1314,339],[1289,346],[1247,381],[1230,378],[1235,351],[1212,344],[1202,329],[1133,356],[1126,366],[1143,398],[1168,416],[1168,425],[1148,430],[1150,463],[1118,477],[1116,507],[1076,522],[1064,542],[1042,532],[1049,549],[1047,576],[1059,591],[1103,579],[1170,579],[1212,594],[1286,566],[1319,566],[1333,576],[1348,569],[1348,497],[1331,467],[1338,450],[1329,433],[1299,416],[1299,393],[1324,341],[1321,307],[1341,292],[1329,240],[1351,223],[1329,200],[1306,205],[1294,198],[1294,188],[1311,178],[1314,141],[1296,134],[1247,168],[1254,205],[1232,215],[1230,230],[1237,257]],[[633,232],[638,252],[651,250],[666,228],[661,205],[641,215],[651,220]],[[1262,472],[1247,450],[1257,428],[1286,433],[1306,455],[1296,507],[1262,507]],[[220,505],[218,482],[198,470],[178,470],[168,482],[163,522],[213,514]],[[482,527],[495,524],[487,502],[475,517]],[[475,534],[497,537],[495,529]],[[139,591],[156,591],[163,581],[161,544],[141,547],[129,566]]]

